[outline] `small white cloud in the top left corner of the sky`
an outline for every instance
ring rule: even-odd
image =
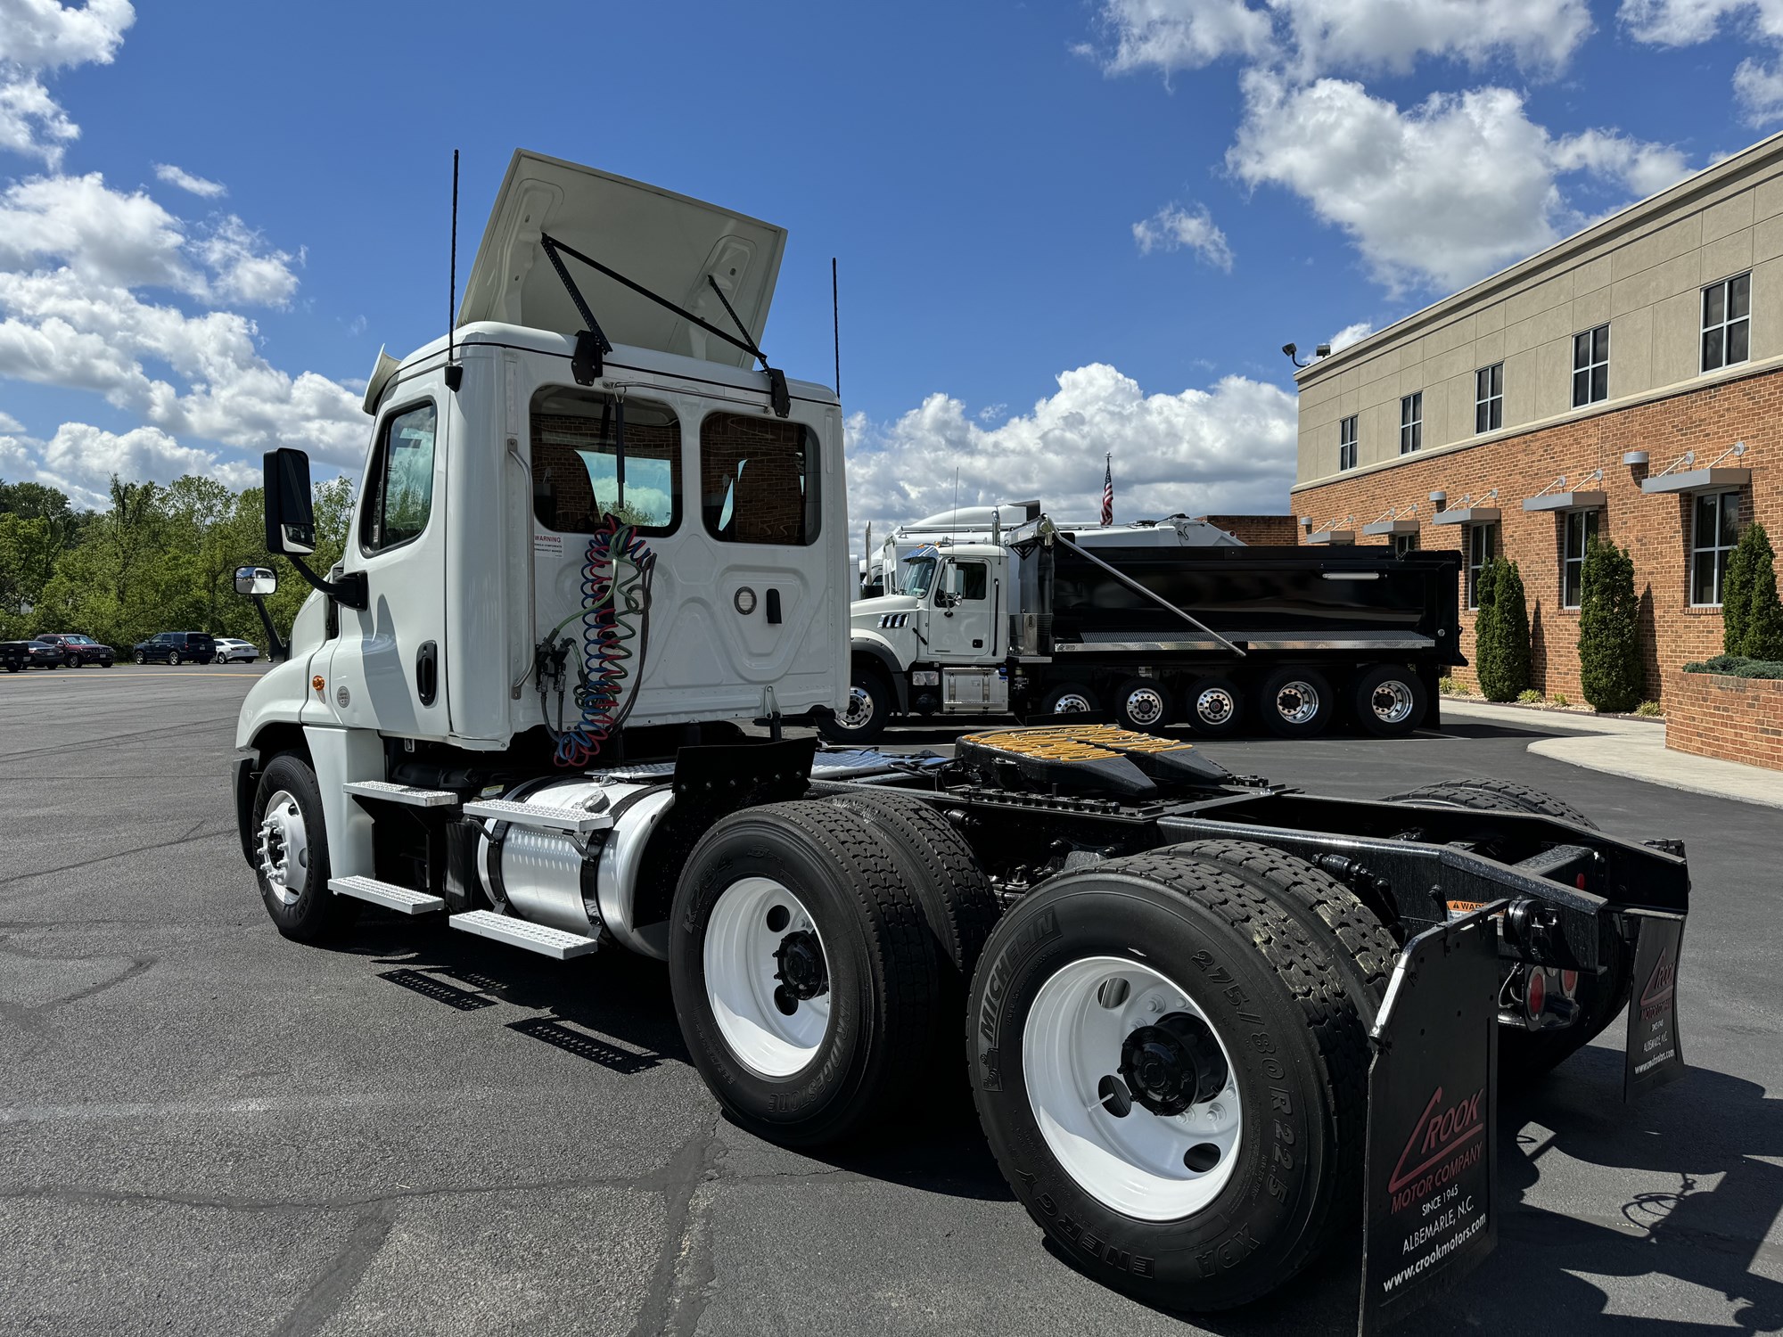
[[[61,166],[80,127],[41,77],[78,64],[111,64],[134,21],[128,0],[87,0],[77,9],[55,0],[0,0],[0,150]]]

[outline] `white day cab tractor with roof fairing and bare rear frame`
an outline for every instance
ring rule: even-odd
[[[1311,797],[1097,724],[952,758],[781,736],[847,699],[850,594],[836,396],[760,353],[783,246],[517,153],[456,326],[380,358],[332,570],[307,458],[267,456],[267,547],[316,586],[237,726],[267,915],[665,961],[763,1137],[895,1128],[965,1071],[1016,1196],[1111,1285],[1234,1305],[1366,1223],[1369,1321],[1416,1305],[1491,1248],[1501,1070],[1631,993],[1630,1089],[1681,1070],[1681,847],[1487,781]]]

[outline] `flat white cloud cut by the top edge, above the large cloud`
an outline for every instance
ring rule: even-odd
[[[1098,21],[1109,45],[1086,50],[1107,73],[1166,78],[1228,55],[1302,78],[1405,73],[1425,55],[1553,73],[1590,34],[1585,0],[1102,0]]]

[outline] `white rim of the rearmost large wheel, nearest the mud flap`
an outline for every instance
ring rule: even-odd
[[[1154,1114],[1138,1102],[1123,1118],[1113,1114],[1102,1082],[1120,1079],[1122,1043],[1177,1013],[1212,1030],[1227,1061],[1225,1089],[1182,1114]],[[1195,1000],[1150,966],[1104,956],[1061,968],[1034,995],[1022,1029],[1022,1068],[1041,1137],[1102,1205],[1141,1221],[1180,1221],[1204,1210],[1232,1178],[1243,1136],[1232,1052]],[[1189,1169],[1184,1157],[1205,1159],[1209,1148],[1218,1161]]]

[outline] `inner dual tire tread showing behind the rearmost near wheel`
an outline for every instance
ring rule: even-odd
[[[1325,950],[1362,1023],[1373,1027],[1400,945],[1355,891],[1305,859],[1245,840],[1196,840],[1157,852],[1216,865],[1275,902]]]

